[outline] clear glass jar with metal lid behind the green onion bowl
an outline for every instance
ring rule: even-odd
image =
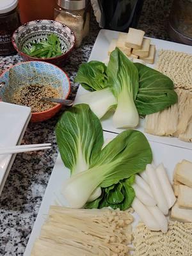
[[[87,0],[58,0],[54,9],[54,20],[72,29],[76,36],[75,47],[81,45],[90,28],[90,12]]]

